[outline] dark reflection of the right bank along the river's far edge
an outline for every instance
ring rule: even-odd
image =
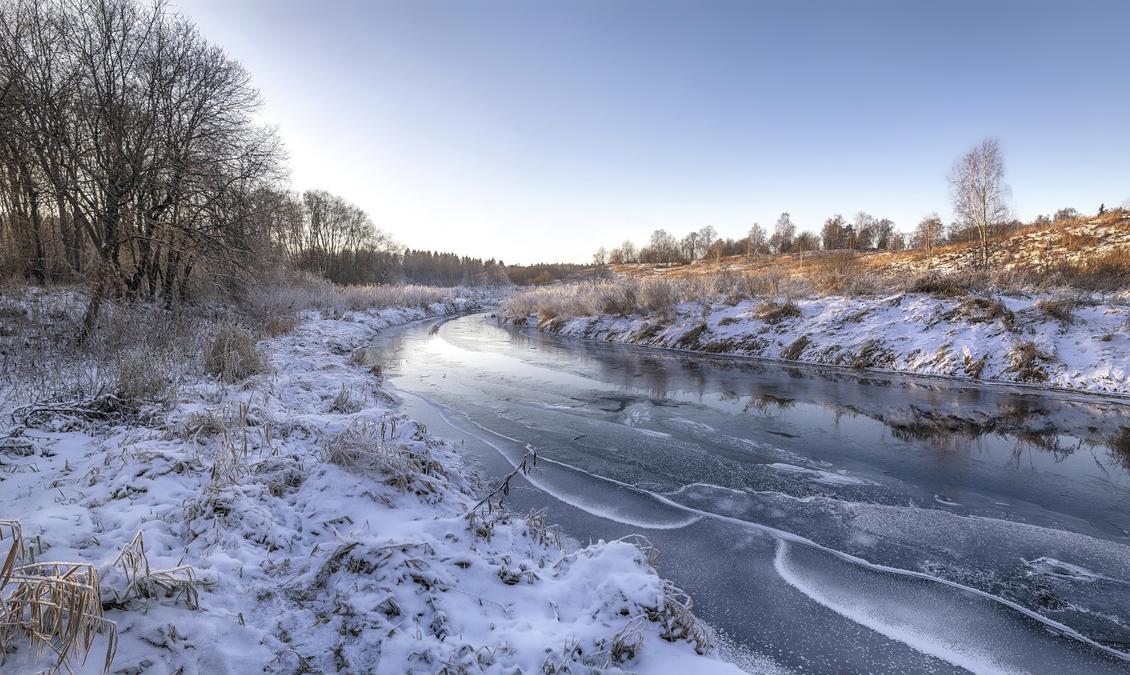
[[[742,413],[770,415],[815,405],[883,423],[895,439],[955,452],[1007,440],[1016,454],[1038,450],[1057,462],[1080,450],[1104,450],[1112,466],[1130,470],[1130,410],[1123,403],[1059,393],[1008,392],[954,380],[860,374],[826,367],[749,359],[649,352],[638,348],[568,340],[531,328],[499,326],[518,348],[559,354],[596,371],[596,378],[653,398],[697,398]],[[572,371],[583,371],[572,369]],[[897,389],[892,395],[892,389]]]

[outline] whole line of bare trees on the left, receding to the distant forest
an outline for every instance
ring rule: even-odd
[[[560,279],[406,251],[359,207],[287,187],[250,73],[166,0],[0,3],[0,277],[173,306],[264,270],[337,283]]]

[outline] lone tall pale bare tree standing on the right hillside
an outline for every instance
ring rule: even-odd
[[[977,264],[982,268],[989,266],[992,237],[1008,218],[1003,178],[1005,165],[994,139],[985,139],[963,155],[949,175],[954,213],[976,234]]]

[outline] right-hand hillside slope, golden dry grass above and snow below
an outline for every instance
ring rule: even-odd
[[[1001,237],[993,265],[818,252],[659,268],[516,293],[503,321],[645,347],[1130,394],[1130,217]]]

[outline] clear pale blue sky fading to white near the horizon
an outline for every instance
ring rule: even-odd
[[[293,186],[410,248],[910,231],[984,138],[1022,220],[1130,200],[1125,0],[173,1],[251,71]]]

